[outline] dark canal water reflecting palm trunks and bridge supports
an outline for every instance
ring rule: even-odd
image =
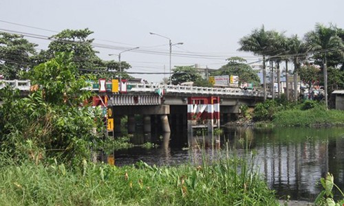
[[[149,139],[158,147],[115,152],[116,165],[138,161],[176,165],[202,156],[200,150],[186,148],[187,137],[183,134],[167,133]],[[257,152],[257,168],[280,198],[314,201],[323,190],[320,179],[327,172],[334,175],[334,182],[344,191],[344,128],[228,127],[224,128],[221,143],[222,148],[227,143],[237,154],[244,155],[247,148],[249,152]],[[206,154],[215,158],[218,152],[208,149]]]

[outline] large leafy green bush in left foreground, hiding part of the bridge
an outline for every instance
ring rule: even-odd
[[[30,159],[76,165],[98,150],[103,137],[103,118],[98,108],[83,105],[91,96],[82,88],[86,77],[76,78],[72,54],[56,58],[30,71],[30,79],[41,88],[27,98],[2,91],[0,107],[1,152],[14,161]]]

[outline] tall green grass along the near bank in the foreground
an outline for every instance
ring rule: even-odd
[[[200,163],[174,167],[3,165],[0,205],[278,205],[250,155],[227,148],[216,161],[203,152]]]

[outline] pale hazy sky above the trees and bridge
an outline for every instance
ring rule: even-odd
[[[0,32],[40,35],[25,36],[39,51],[50,43],[46,36],[89,28],[101,59],[118,60],[122,52],[129,72],[147,73],[131,76],[161,82],[169,77],[169,39],[183,43],[172,46],[172,69],[219,69],[232,56],[261,59],[237,49],[240,38],[262,25],[302,38],[316,23],[344,28],[343,8],[343,0],[0,0]]]

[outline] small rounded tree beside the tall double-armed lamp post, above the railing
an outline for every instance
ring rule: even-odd
[[[173,69],[172,84],[180,84],[182,82],[196,82],[202,77],[194,66],[180,66]]]

